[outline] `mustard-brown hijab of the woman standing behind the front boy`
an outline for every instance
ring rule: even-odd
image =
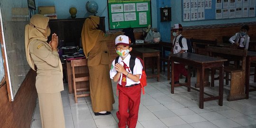
[[[100,24],[100,17],[97,16],[89,16],[86,18],[83,27],[82,27],[82,48],[83,53],[88,58],[88,54],[95,46],[96,41],[101,33],[101,30],[98,30],[97,27]]]

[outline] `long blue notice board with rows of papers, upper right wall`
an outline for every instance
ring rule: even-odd
[[[182,0],[183,21],[255,17],[256,0]]]

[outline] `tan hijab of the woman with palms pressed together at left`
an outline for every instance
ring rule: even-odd
[[[51,31],[48,28],[46,32],[46,27],[48,26],[49,18],[43,15],[36,14],[30,19],[30,23],[25,27],[25,49],[27,55],[27,63],[29,66],[35,70],[35,63],[29,54],[29,44],[30,42],[38,39],[41,41],[47,41],[47,37],[50,36]],[[46,35],[44,35],[46,33]],[[46,43],[49,45],[48,43]],[[50,46],[50,45],[49,45]],[[51,47],[51,46],[50,46]],[[62,71],[62,64],[59,63],[60,69]]]

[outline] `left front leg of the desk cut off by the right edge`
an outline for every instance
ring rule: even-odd
[[[250,67],[251,67],[251,59],[250,57],[247,57],[246,58],[246,99],[249,98]]]

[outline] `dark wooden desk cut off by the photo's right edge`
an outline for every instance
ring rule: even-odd
[[[256,61],[256,52],[247,51],[246,57],[246,99],[249,98],[249,91],[256,91],[256,86],[250,85],[250,68],[251,62]],[[253,87],[254,89],[249,89],[249,87]]]

